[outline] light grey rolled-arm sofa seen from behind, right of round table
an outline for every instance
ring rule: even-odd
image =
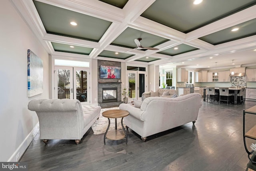
[[[176,98],[148,97],[144,99],[140,108],[131,104],[122,103],[119,109],[130,114],[125,117],[124,123],[143,141],[146,137],[178,127],[197,120],[199,108],[202,105],[200,93],[190,93]]]

